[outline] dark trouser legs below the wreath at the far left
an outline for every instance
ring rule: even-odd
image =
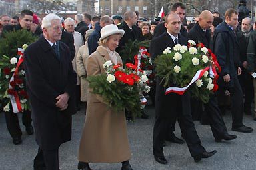
[[[24,111],[22,114],[22,123],[25,127],[31,126],[31,111]],[[16,113],[13,111],[5,112],[5,120],[7,129],[12,138],[21,137],[21,127],[19,126],[19,119]]]

